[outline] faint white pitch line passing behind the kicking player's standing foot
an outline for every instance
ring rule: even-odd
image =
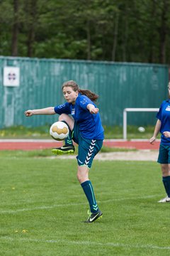
[[[135,199],[147,199],[147,198],[154,198],[156,196],[159,196],[159,194],[156,195],[150,195],[150,196],[143,196],[139,198],[119,198],[119,199],[108,199],[105,201],[98,201],[98,203],[109,203],[109,202],[117,202],[117,201],[126,201],[126,200],[135,200]],[[45,210],[45,209],[53,209],[57,207],[67,207],[67,206],[80,206],[80,205],[86,205],[87,203],[65,203],[65,204],[58,204],[53,206],[37,206],[33,208],[21,208],[17,210],[0,210],[0,214],[15,214],[15,213],[21,213],[24,211],[31,211],[31,210]]]

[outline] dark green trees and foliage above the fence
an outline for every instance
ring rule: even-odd
[[[169,9],[167,0],[0,1],[0,54],[169,63]]]

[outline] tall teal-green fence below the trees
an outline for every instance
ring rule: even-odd
[[[4,86],[4,68],[18,67],[18,86]],[[26,118],[25,110],[62,104],[61,85],[76,80],[96,92],[103,124],[122,125],[126,107],[159,107],[167,97],[169,67],[85,60],[0,58],[0,128],[52,124],[57,115]],[[128,124],[155,124],[155,113],[129,113]]]

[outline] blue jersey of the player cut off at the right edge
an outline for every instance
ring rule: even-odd
[[[164,137],[163,132],[170,132],[170,100],[164,100],[162,102],[159,112],[157,113],[157,119],[161,121],[161,144],[169,145],[170,138]]]

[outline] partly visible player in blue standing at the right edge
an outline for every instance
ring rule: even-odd
[[[168,85],[170,97],[170,82]],[[162,181],[166,191],[166,197],[161,199],[159,203],[170,202],[170,100],[164,100],[157,113],[157,123],[154,128],[153,137],[150,143],[153,144],[157,134],[161,132],[161,144],[159,146],[158,163],[161,164]]]

